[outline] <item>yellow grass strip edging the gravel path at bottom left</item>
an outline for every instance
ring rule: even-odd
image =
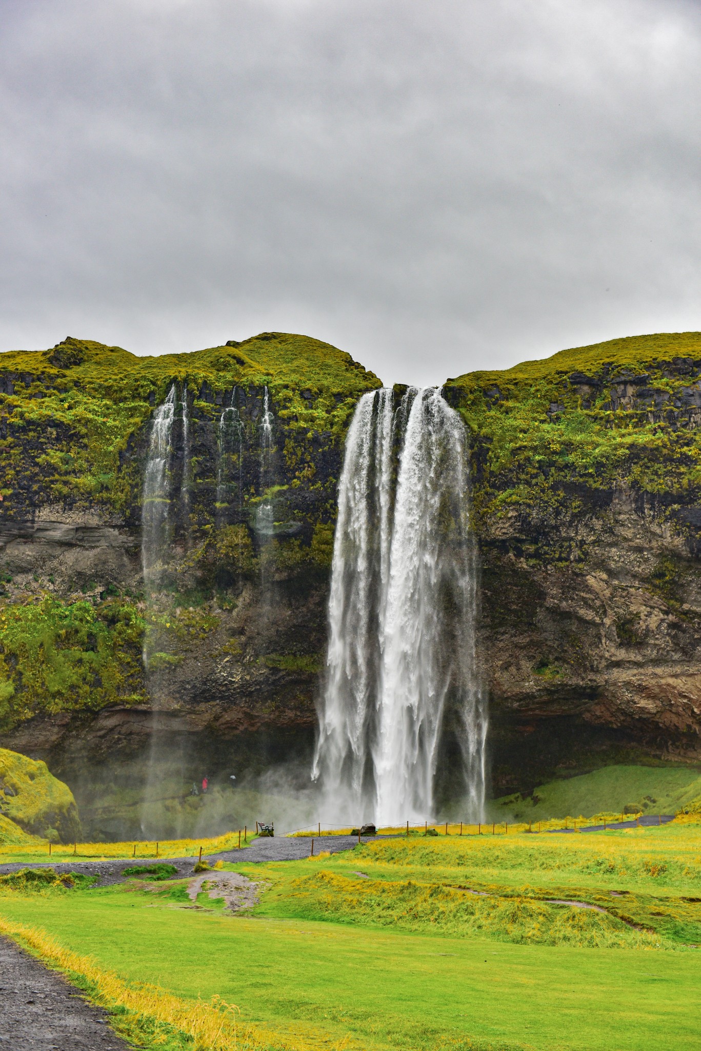
[[[34,955],[84,989],[89,998],[112,1013],[118,1031],[146,1046],[185,1036],[192,1051],[311,1051],[318,1043],[283,1036],[236,1022],[239,1008],[220,996],[208,1003],[187,1002],[158,986],[126,983],[103,970],[89,956],[64,949],[45,931],[0,916],[0,933],[13,939]],[[143,1046],[143,1044],[142,1044]],[[338,1045],[336,1045],[338,1048]]]

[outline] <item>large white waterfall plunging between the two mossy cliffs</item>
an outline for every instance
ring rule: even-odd
[[[358,403],[334,539],[313,776],[328,817],[481,817],[487,712],[462,423],[435,388]]]

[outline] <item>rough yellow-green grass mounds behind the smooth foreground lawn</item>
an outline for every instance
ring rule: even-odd
[[[701,825],[603,832],[397,837],[266,866],[269,915],[441,929],[545,945],[701,944]],[[556,904],[556,902],[577,904]],[[586,907],[589,906],[589,907]]]

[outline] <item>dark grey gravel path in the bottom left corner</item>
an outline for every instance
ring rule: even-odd
[[[0,1048],[8,1051],[128,1051],[107,1013],[0,937]]]

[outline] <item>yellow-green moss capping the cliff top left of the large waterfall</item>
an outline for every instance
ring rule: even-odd
[[[314,432],[343,433],[359,395],[379,386],[349,354],[283,332],[159,357],[68,337],[53,350],[0,354],[0,378],[12,390],[0,394],[5,513],[28,493],[128,510],[141,488],[139,463],[120,465],[120,453],[143,437],[173,380],[198,394],[267,385],[279,417],[298,432],[289,452],[296,459]]]

